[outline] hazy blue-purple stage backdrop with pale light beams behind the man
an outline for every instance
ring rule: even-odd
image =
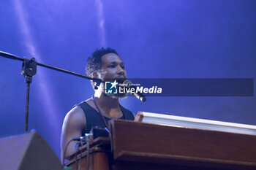
[[[255,0],[7,0],[0,50],[84,74],[97,47],[115,48],[131,78],[255,78]],[[31,84],[29,129],[60,155],[64,116],[93,94],[87,80],[42,67]],[[21,62],[0,58],[0,136],[23,133]],[[138,111],[256,125],[253,97],[151,97]]]

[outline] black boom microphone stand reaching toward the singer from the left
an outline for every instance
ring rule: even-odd
[[[35,58],[19,58],[15,55],[12,55],[10,53],[5,53],[0,51],[0,56],[5,57],[5,58],[10,58],[10,59],[14,59],[14,60],[18,60],[18,61],[23,61],[22,63],[22,72],[21,74],[23,74],[23,76],[26,78],[26,112],[25,112],[25,131],[28,131],[28,121],[29,121],[29,89],[30,89],[30,84],[32,82],[32,77],[37,73],[37,66],[42,66],[48,69],[53,69],[59,72],[64,72],[66,74],[71,74],[77,77],[82,77],[84,79],[87,80],[92,80],[93,82],[95,82],[95,86],[94,88],[97,89],[100,85],[100,83],[102,82],[102,80],[97,79],[97,78],[91,78],[91,77],[87,77],[84,76],[83,74],[78,74],[75,72],[70,72],[64,69],[59,69],[57,67],[54,66],[49,66],[43,63],[37,63],[37,61],[35,60]]]

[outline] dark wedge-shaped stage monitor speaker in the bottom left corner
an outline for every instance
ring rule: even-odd
[[[55,152],[37,131],[0,139],[1,170],[62,170]]]

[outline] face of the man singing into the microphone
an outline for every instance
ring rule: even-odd
[[[124,63],[115,53],[108,53],[101,58],[102,66],[99,71],[99,78],[102,80],[121,80],[127,79]]]

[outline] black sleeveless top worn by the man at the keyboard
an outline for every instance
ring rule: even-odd
[[[93,107],[87,104],[86,101],[83,101],[76,106],[79,106],[81,109],[83,109],[84,115],[86,116],[86,129],[83,129],[81,136],[84,136],[85,133],[86,134],[89,133],[91,131],[91,128],[94,128],[95,126],[98,126],[100,128],[105,128],[105,123],[102,120],[102,116]],[[124,110],[124,114],[127,116],[127,120],[135,119],[131,111],[129,111],[128,109],[125,109],[124,107],[122,107],[122,109]],[[124,114],[119,119],[124,120],[125,119]],[[108,121],[111,120],[108,117],[104,117],[104,118],[107,124],[108,124]]]

